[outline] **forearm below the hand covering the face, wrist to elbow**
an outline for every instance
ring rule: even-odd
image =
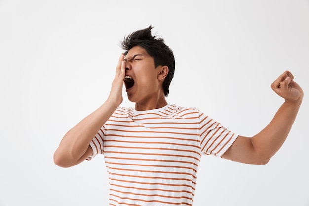
[[[76,165],[87,151],[91,140],[116,108],[116,104],[107,101],[70,129],[55,151],[55,164],[62,167]]]

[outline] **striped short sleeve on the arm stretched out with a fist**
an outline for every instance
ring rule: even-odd
[[[238,137],[202,112],[199,112],[199,136],[202,153],[217,157],[221,157]]]

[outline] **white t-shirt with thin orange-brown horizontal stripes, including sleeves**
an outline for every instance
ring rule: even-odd
[[[87,160],[104,154],[111,206],[192,206],[201,155],[220,157],[236,138],[197,108],[118,107]]]

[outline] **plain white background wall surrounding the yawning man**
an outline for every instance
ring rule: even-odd
[[[103,156],[60,168],[53,153],[107,98],[124,35],[149,25],[175,54],[167,101],[233,132],[270,122],[285,70],[305,92],[267,165],[202,158],[194,206],[309,206],[308,0],[0,0],[0,206],[108,204]]]

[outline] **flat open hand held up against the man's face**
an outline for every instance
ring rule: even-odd
[[[116,67],[116,75],[112,83],[112,88],[108,101],[119,106],[122,103],[122,88],[123,88],[123,79],[125,76],[125,62],[124,54],[121,54],[119,57],[118,65]]]

